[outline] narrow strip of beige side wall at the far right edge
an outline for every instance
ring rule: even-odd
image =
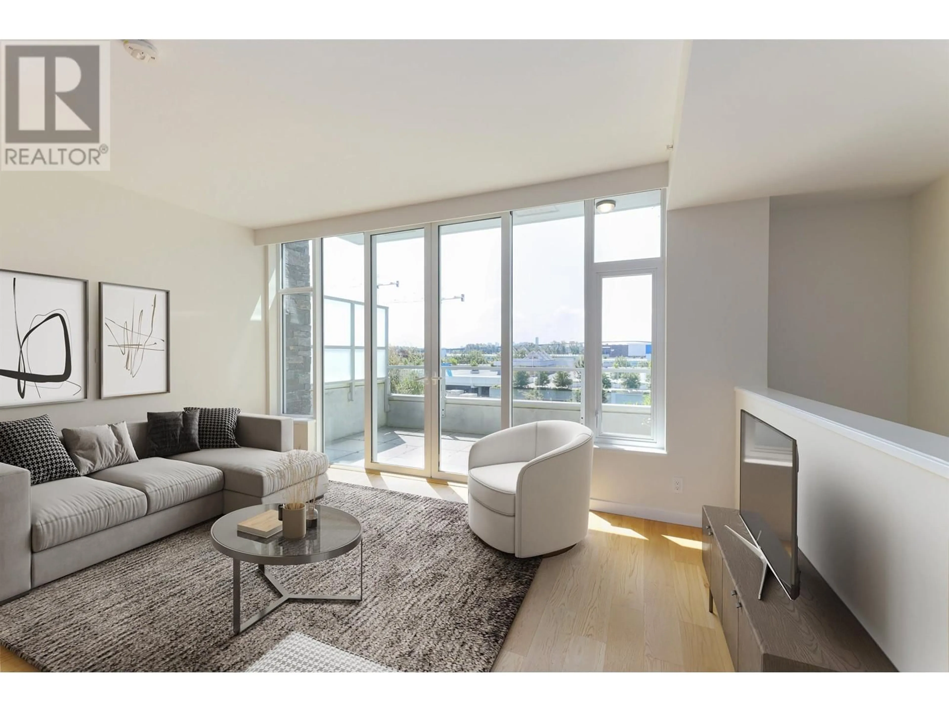
[[[909,424],[949,435],[949,176],[910,203]]]

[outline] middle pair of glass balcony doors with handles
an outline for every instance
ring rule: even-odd
[[[375,384],[364,396],[365,457],[348,456],[351,464],[464,478],[474,442],[510,424],[502,408],[511,379],[502,358],[505,231],[510,215],[366,235],[374,316],[364,339],[378,357],[364,365]]]

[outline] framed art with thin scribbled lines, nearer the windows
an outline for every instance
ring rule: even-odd
[[[168,393],[168,290],[99,285],[100,395]]]

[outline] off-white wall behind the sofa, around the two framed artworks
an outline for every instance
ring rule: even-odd
[[[263,412],[264,253],[249,229],[95,179],[0,174],[0,268],[89,280],[88,400],[3,408],[0,420],[48,413],[68,427],[192,404]],[[171,393],[98,399],[100,281],[171,290]]]

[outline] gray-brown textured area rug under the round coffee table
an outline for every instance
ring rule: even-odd
[[[0,643],[50,671],[246,670],[298,632],[397,670],[491,669],[539,558],[486,546],[462,502],[332,482],[323,503],[363,524],[361,603],[289,601],[233,636],[233,563],[205,522],[0,606]],[[248,618],[275,594],[242,570]],[[355,593],[359,551],[272,571],[296,592]]]

